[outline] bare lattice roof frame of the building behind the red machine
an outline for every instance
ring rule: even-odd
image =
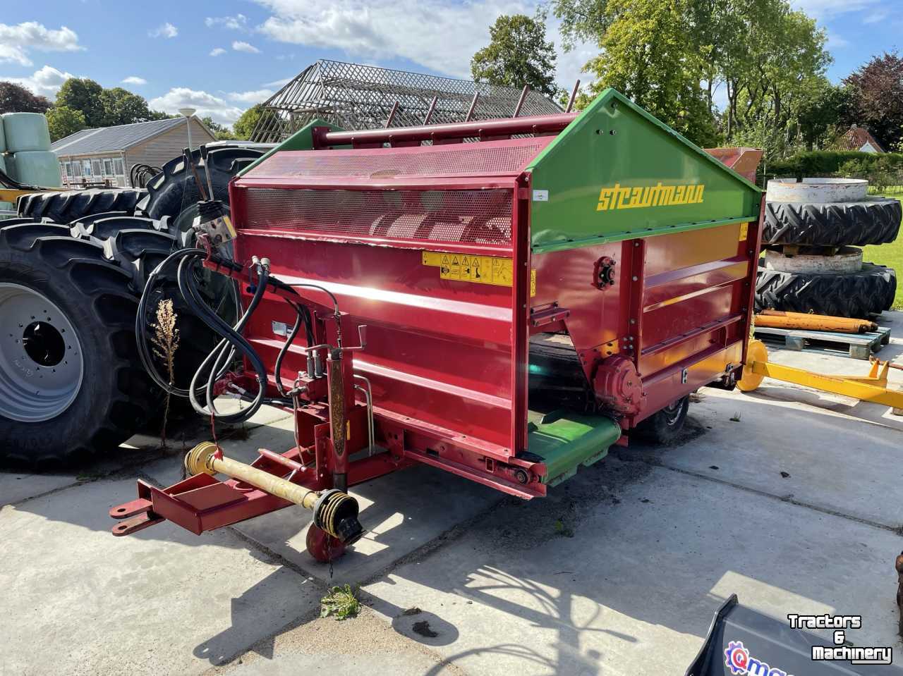
[[[509,117],[521,90],[466,79],[318,60],[265,101],[252,140],[278,143],[314,119],[343,129],[375,129],[386,125],[398,104],[391,126],[421,125],[433,97],[432,124],[462,122],[475,93],[471,119]],[[553,101],[535,91],[527,93],[521,116],[560,113]]]

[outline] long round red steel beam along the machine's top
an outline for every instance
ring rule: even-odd
[[[453,122],[447,125],[399,126],[392,129],[365,129],[330,132],[328,127],[313,130],[313,147],[334,145],[398,144],[450,139],[510,136],[512,134],[556,134],[570,125],[578,113],[504,117],[496,120]]]

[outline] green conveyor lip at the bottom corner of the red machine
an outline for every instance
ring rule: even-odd
[[[554,486],[572,477],[581,463],[603,458],[620,435],[618,423],[604,416],[563,412],[561,417],[540,417],[531,412],[527,450],[543,458],[543,482]]]

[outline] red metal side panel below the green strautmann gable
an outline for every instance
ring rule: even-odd
[[[631,357],[647,391],[636,423],[742,364],[759,225],[727,225],[533,256],[533,307],[557,303],[591,382],[595,365]],[[599,289],[601,258],[617,262]]]

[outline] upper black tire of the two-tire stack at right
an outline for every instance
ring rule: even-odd
[[[897,199],[796,204],[766,202],[762,243],[865,246],[893,242],[900,228]]]

